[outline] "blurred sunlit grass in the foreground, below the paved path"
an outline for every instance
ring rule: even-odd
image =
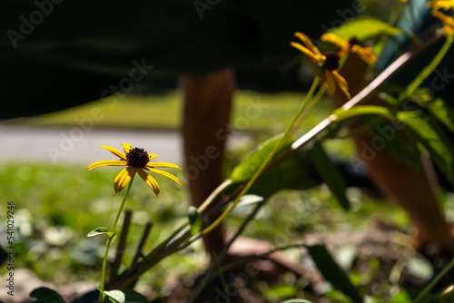
[[[5,163],[0,167],[0,191],[5,200],[15,201],[17,267],[33,269],[44,280],[67,283],[74,280],[99,280],[104,251],[103,237],[86,239],[97,227],[110,228],[123,194],[114,194],[114,177],[118,169],[104,168],[85,172],[79,165],[44,165]],[[143,226],[153,222],[153,230],[144,251],[169,235],[186,218],[189,206],[184,177],[180,187],[166,178],[156,179],[162,194],[156,198],[141,180],[134,181],[126,209],[133,210],[133,224],[128,237],[123,266],[133,258]],[[257,220],[252,221],[245,235],[266,239],[275,245],[301,239],[305,230],[336,230],[359,228],[377,214],[387,220],[408,224],[401,210],[389,203],[363,200],[356,193],[354,210],[341,210],[325,188],[310,191],[281,191],[269,200]],[[242,221],[244,210],[228,220],[230,230]],[[329,219],[329,220],[327,220]],[[273,224],[270,224],[272,222]],[[26,230],[30,226],[32,230]],[[63,227],[67,239],[54,243],[49,239],[55,227]],[[21,230],[22,229],[22,230]],[[22,243],[22,244],[21,244]],[[92,263],[90,263],[92,262]],[[177,266],[177,264],[179,266]],[[181,266],[183,265],[183,266]],[[177,279],[202,270],[206,258],[202,243],[181,254],[165,259],[144,280],[156,291],[164,288],[168,279]],[[2,269],[2,274],[5,269]]]

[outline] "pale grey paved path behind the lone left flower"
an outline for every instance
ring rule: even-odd
[[[245,136],[232,136],[231,143]],[[113,130],[81,127],[55,128],[0,124],[0,162],[46,161],[54,164],[76,162],[87,164],[114,160],[115,156],[100,145],[123,152],[120,143],[131,143],[160,155],[159,161],[183,164],[183,142],[179,132],[153,130]]]

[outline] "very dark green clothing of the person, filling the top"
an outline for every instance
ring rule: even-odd
[[[298,55],[294,32],[318,38],[361,9],[360,0],[4,0],[0,97],[11,105],[0,118],[100,99],[142,75],[286,64]]]

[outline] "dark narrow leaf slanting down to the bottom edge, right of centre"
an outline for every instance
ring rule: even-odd
[[[323,277],[330,281],[334,288],[341,290],[341,292],[349,296],[355,303],[363,302],[358,290],[351,284],[350,279],[338,264],[334,262],[324,246],[313,245],[308,246],[307,249]]]

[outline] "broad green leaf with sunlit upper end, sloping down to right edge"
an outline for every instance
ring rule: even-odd
[[[439,129],[436,122],[429,121],[421,111],[398,112],[397,118],[409,127],[415,139],[429,152],[430,157],[454,184],[454,147]]]

